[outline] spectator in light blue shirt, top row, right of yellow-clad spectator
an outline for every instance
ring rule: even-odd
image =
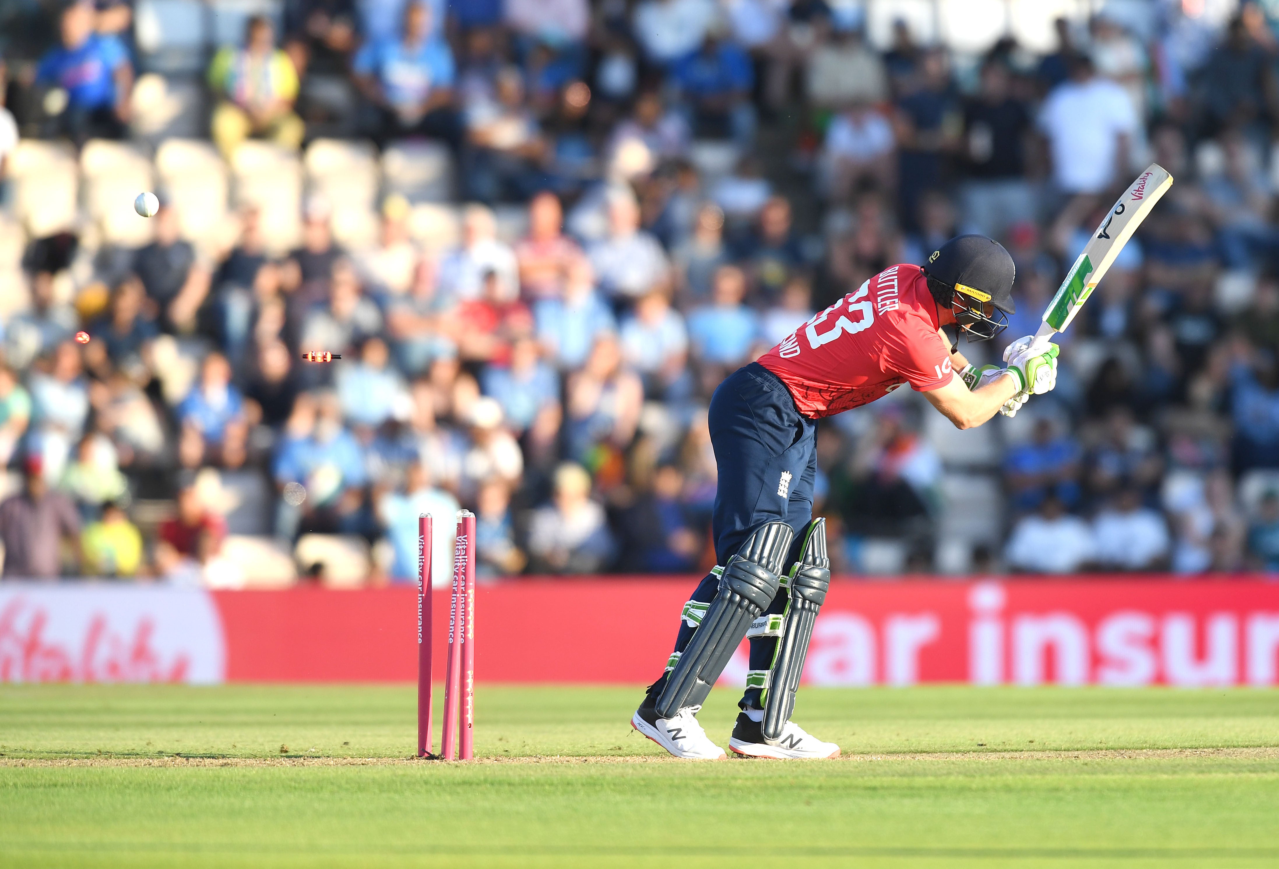
[[[417,133],[455,150],[462,122],[453,108],[453,52],[432,35],[431,8],[409,3],[399,38],[370,40],[356,54],[356,84],[380,113],[375,138]]]

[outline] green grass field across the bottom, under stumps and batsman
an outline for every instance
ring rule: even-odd
[[[445,764],[408,687],[0,686],[0,866],[1279,866],[1276,691],[804,690],[808,763],[638,699],[481,687]]]

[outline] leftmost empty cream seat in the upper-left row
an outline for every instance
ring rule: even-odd
[[[75,228],[79,166],[69,143],[22,140],[9,155],[8,173],[14,215],[28,235]]]

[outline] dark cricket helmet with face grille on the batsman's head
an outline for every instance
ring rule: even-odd
[[[1004,246],[985,235],[957,235],[923,265],[929,292],[950,308],[969,342],[990,340],[1008,328],[1017,266]]]

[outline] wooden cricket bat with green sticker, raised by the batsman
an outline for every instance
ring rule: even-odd
[[[1065,331],[1110,269],[1110,264],[1119,256],[1119,251],[1172,186],[1173,177],[1157,163],[1150,164],[1137,175],[1137,180],[1114,203],[1097,232],[1083,246],[1079,259],[1065,274],[1065,280],[1056,288],[1056,294],[1044,311],[1044,323],[1035,333],[1035,344],[1046,346],[1053,335]]]

